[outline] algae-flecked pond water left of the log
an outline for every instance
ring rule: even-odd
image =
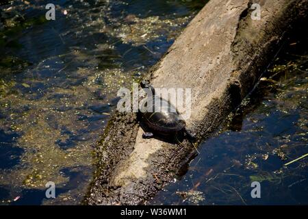
[[[45,19],[47,3],[56,5],[55,21]],[[80,203],[117,90],[155,64],[204,3],[1,6],[0,203]],[[56,185],[55,199],[45,197],[48,181]]]

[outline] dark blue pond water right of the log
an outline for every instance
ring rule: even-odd
[[[308,34],[292,33],[277,60],[188,172],[153,198],[161,205],[307,205]],[[251,183],[261,198],[252,198]]]

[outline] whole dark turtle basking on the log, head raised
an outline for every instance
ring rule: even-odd
[[[142,123],[150,130],[145,131],[142,134],[142,138],[153,138],[155,136],[154,133],[158,136],[176,136],[181,133],[182,136],[185,136],[190,141],[196,140],[195,136],[186,129],[185,120],[183,120],[174,105],[162,99],[160,96],[155,95],[155,89],[149,82],[141,81],[140,87],[151,91],[152,96],[148,96],[148,98],[152,98],[152,102],[148,101],[148,103],[152,104],[153,107],[153,112],[148,111],[147,105],[143,105],[139,109]],[[162,106],[159,112],[155,112],[155,105],[157,104],[161,104]]]

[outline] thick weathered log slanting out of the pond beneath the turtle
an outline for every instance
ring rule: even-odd
[[[261,19],[251,19],[251,5]],[[207,138],[250,92],[299,19],[308,0],[211,0],[149,73],[155,88],[192,88],[188,129]],[[181,113],[181,112],[180,112]],[[97,148],[90,205],[145,203],[194,155],[182,145],[142,139],[136,114],[116,113]]]

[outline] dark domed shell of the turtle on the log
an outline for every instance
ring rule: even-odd
[[[185,127],[185,121],[181,118],[175,106],[165,99],[154,96],[150,104],[152,107],[148,107],[145,104],[141,110],[144,123],[146,123],[150,129],[164,133],[172,133],[180,131]],[[159,108],[157,105],[161,107]],[[151,110],[149,110],[149,108]]]

